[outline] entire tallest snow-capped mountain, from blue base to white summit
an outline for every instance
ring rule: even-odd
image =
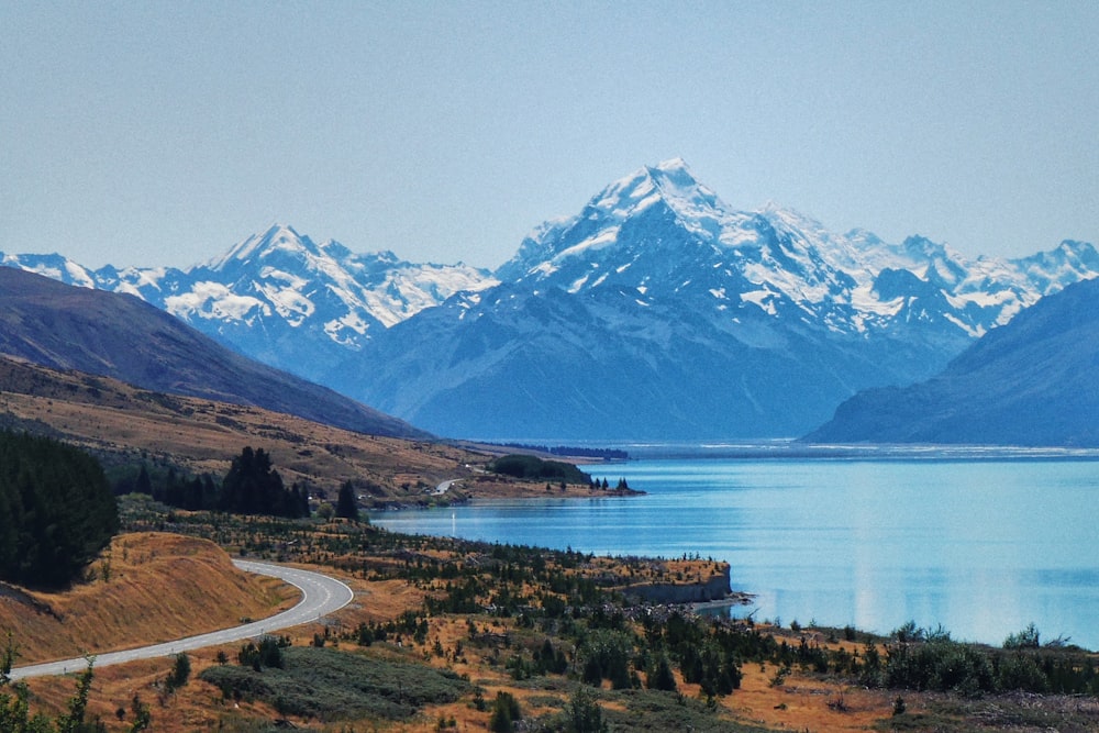
[[[447,435],[797,435],[1097,274],[1089,244],[968,260],[737,211],[677,159],[543,224],[499,285],[395,325],[324,379]]]

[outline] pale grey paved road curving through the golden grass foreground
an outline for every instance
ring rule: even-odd
[[[232,629],[214,631],[199,636],[188,636],[187,638],[154,644],[153,646],[142,646],[136,649],[99,654],[96,655],[96,667],[107,667],[112,664],[133,662],[134,659],[151,659],[179,654],[180,652],[200,649],[206,646],[214,646],[215,644],[227,644],[244,638],[253,638],[281,629],[289,629],[290,626],[315,621],[323,615],[338,611],[355,597],[352,589],[343,582],[319,573],[310,573],[309,570],[300,570],[281,565],[268,565],[267,563],[253,563],[251,560],[233,560],[233,564],[242,570],[257,575],[268,575],[285,580],[291,586],[296,586],[301,590],[301,601],[292,609],[277,613],[263,621],[254,621],[242,626],[233,626]],[[11,678],[21,679],[24,677],[64,675],[69,671],[82,671],[87,666],[88,663],[84,657],[47,662],[26,667],[15,667],[11,670]]]

